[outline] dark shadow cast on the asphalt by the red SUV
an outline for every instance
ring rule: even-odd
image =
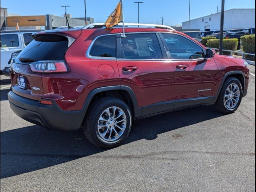
[[[223,115],[213,106],[199,106],[136,120],[123,145],[141,139],[152,140],[158,134]],[[106,149],[90,144],[82,130],[57,132],[34,125],[4,131],[1,132],[1,178],[48,168],[103,151]]]

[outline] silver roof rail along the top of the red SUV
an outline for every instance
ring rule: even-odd
[[[118,23],[118,25],[116,26],[122,26],[123,23],[120,22]],[[92,24],[88,24],[84,27],[82,27],[82,29],[88,29],[88,28],[102,28],[105,26],[105,23],[92,23]],[[115,27],[116,27],[115,26]],[[156,24],[143,24],[143,23],[124,23],[124,26],[145,26],[145,27],[155,27],[155,28],[160,28],[160,29],[170,29],[170,30],[174,30],[174,28],[167,26],[167,25],[156,25]]]

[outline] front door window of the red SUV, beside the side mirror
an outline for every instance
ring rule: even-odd
[[[204,58],[202,48],[192,42],[192,40],[170,33],[162,33],[162,36],[166,42],[166,50],[169,51],[172,59],[188,60]]]

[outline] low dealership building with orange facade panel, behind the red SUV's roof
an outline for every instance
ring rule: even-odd
[[[70,26],[84,26],[85,18],[71,18],[70,14],[67,14],[68,22]],[[94,23],[94,18],[87,17],[87,23]],[[54,29],[61,26],[66,26],[66,17],[60,17],[55,15],[36,15],[36,16],[20,16],[18,14],[9,14],[7,9],[1,8],[1,30],[15,30],[16,25],[19,25],[22,29]]]

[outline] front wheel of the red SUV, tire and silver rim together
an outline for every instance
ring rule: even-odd
[[[242,85],[237,78],[228,77],[215,103],[222,113],[232,113],[237,110],[242,100]]]

